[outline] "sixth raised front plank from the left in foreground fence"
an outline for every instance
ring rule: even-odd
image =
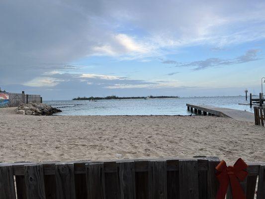
[[[167,162],[149,161],[149,199],[167,199]]]

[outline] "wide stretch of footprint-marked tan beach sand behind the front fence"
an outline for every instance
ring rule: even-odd
[[[198,155],[265,162],[265,128],[215,116],[33,116],[0,108],[0,162]]]

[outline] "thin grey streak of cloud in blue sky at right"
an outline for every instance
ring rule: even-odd
[[[176,64],[175,67],[194,67],[193,70],[202,70],[206,68],[211,68],[215,66],[227,66],[232,64],[247,63],[251,61],[258,60],[258,53],[261,52],[260,49],[250,49],[244,55],[236,57],[234,59],[220,59],[220,58],[209,58],[201,61],[193,61],[189,63],[178,63],[177,61],[169,60],[167,62],[163,61],[164,64]],[[174,75],[174,73],[169,73],[167,75]]]

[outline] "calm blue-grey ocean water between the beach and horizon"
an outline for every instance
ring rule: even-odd
[[[249,99],[248,99],[249,100]],[[135,100],[54,100],[44,101],[62,112],[55,115],[189,115],[186,103],[214,105],[254,112],[243,96],[193,97],[170,99]]]

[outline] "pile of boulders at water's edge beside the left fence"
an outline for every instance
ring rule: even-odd
[[[15,112],[26,115],[52,115],[55,112],[62,112],[62,110],[53,108],[45,103],[37,104],[30,102],[28,104],[21,104],[15,109]]]

